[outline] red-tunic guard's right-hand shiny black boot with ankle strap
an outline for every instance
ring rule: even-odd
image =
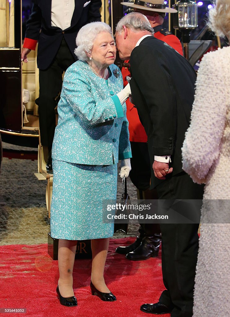
[[[144,237],[137,249],[129,252],[126,259],[133,261],[147,260],[150,257],[156,257],[161,245],[161,238],[159,236]]]

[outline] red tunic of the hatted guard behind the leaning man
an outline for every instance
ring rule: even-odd
[[[163,31],[163,33],[161,33],[161,31]],[[167,34],[167,35],[165,35]],[[174,48],[178,53],[180,53],[181,55],[183,55],[183,51],[182,51],[182,46],[181,46],[181,42],[179,41],[179,39],[171,34],[170,32],[164,32],[163,29],[161,29],[160,31],[154,33],[154,36],[161,40],[166,42],[167,44],[169,44],[172,48]],[[129,61],[125,61],[126,63],[128,63]],[[121,70],[122,76],[123,76],[123,82],[124,82],[124,87],[127,85],[127,81],[126,81],[126,76],[130,76],[131,74],[128,70],[127,67],[122,67]],[[141,124],[140,120],[139,120],[139,116],[137,113],[137,109],[134,108],[133,104],[130,102],[129,99],[126,100],[126,107],[127,107],[127,119],[129,121],[129,139],[131,142],[147,142],[147,135],[144,131],[144,126]]]

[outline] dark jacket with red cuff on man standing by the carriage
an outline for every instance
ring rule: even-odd
[[[51,27],[51,0],[33,0],[32,12],[26,24],[25,37],[39,41],[38,68],[48,68],[60,47],[63,36],[76,58],[73,52],[76,47],[75,39],[79,29],[87,23],[101,21],[99,12],[101,0],[91,0],[84,7],[86,2],[87,0],[75,0],[71,26],[62,31],[60,28]]]

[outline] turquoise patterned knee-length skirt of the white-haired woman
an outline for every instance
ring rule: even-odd
[[[113,223],[103,223],[102,202],[116,199],[117,164],[82,165],[53,160],[51,236],[86,240],[113,236]]]

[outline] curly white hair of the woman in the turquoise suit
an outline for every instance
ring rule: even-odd
[[[93,42],[97,35],[101,32],[109,32],[113,38],[111,27],[104,22],[88,23],[79,30],[76,37],[77,48],[74,49],[74,54],[78,57],[80,61],[89,60],[86,52],[91,52],[93,48]]]

